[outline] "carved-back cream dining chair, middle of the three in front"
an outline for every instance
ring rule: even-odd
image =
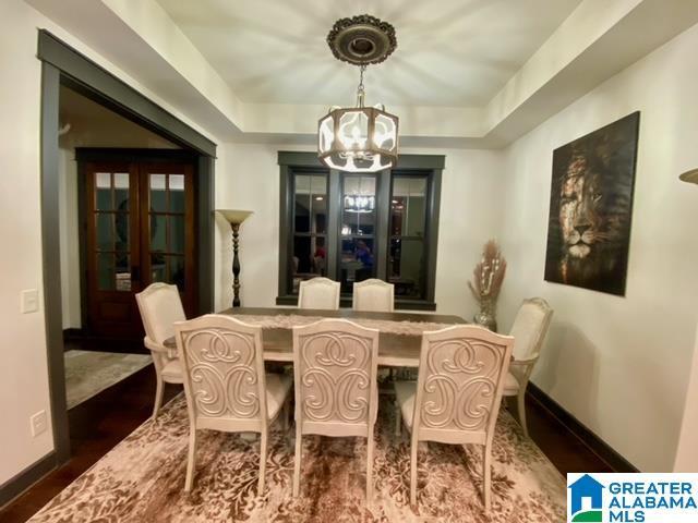
[[[296,463],[300,491],[302,436],[366,438],[366,502],[373,498],[373,428],[377,405],[378,330],[346,319],[293,327]]]

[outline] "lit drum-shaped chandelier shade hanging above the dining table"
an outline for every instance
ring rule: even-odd
[[[375,172],[397,160],[398,118],[378,107],[332,108],[320,119],[317,156],[330,169]]]

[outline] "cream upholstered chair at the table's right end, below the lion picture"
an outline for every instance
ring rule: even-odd
[[[542,297],[524,300],[509,332],[516,343],[514,345],[514,360],[509,364],[509,372],[504,381],[504,396],[517,397],[519,423],[526,437],[528,437],[526,388],[535,362],[538,362],[552,318],[553,309]]]

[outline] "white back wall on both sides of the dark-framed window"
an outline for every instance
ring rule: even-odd
[[[227,144],[231,167],[216,188],[216,205],[254,210],[241,228],[241,300],[248,306],[273,306],[278,291],[279,150],[282,145]],[[310,150],[310,149],[304,149]],[[497,199],[502,169],[491,150],[406,149],[402,154],[446,156],[442,180],[436,304],[440,313],[472,317],[476,304],[467,282],[484,242],[500,229]],[[219,222],[222,302],[230,303],[230,227]]]

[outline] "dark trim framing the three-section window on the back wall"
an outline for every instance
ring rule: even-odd
[[[278,151],[278,163],[280,172],[280,195],[279,195],[279,281],[277,305],[297,305],[298,296],[289,293],[287,288],[288,275],[290,267],[289,260],[292,259],[292,245],[289,242],[288,230],[292,227],[292,192],[289,191],[289,183],[292,174],[301,172],[329,172],[328,187],[328,222],[327,222],[327,245],[337,245],[339,239],[339,217],[338,214],[329,210],[340,208],[339,195],[341,193],[339,183],[340,178],[337,171],[329,170],[324,167],[317,159],[317,154],[308,151]],[[426,239],[424,240],[424,248],[428,252],[426,259],[426,296],[425,300],[395,300],[396,309],[407,311],[436,311],[435,293],[436,293],[436,258],[438,245],[438,221],[441,207],[441,183],[442,173],[446,165],[444,155],[400,155],[397,165],[393,169],[400,174],[409,175],[410,171],[414,174],[429,171],[429,200],[426,208]],[[390,170],[381,171],[377,174],[376,195],[378,200],[385,202],[389,198],[393,187],[390,183]],[[333,200],[333,195],[336,200]],[[380,245],[380,253],[384,253],[387,248],[388,241],[388,221],[389,209],[380,209],[376,214],[376,230],[374,234],[375,245]],[[376,278],[382,280],[387,276],[387,256],[377,253],[376,259]],[[327,277],[337,280],[337,250],[328,250],[327,258]],[[342,296],[340,299],[341,307],[351,306],[351,296]]]

